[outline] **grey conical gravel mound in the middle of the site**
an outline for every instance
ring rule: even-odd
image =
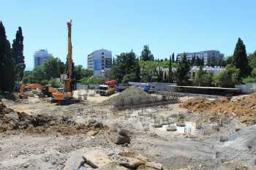
[[[154,102],[155,98],[150,94],[143,91],[143,89],[136,86],[131,86],[126,90],[119,93],[117,96],[113,96],[105,101],[105,104],[113,106],[127,105],[127,104],[143,104],[145,102]]]

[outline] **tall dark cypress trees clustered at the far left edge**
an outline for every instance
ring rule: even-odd
[[[0,90],[1,92],[12,92],[15,81],[23,79],[25,69],[23,56],[23,34],[22,28],[18,27],[15,39],[10,45],[5,28],[0,21]]]

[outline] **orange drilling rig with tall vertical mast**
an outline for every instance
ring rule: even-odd
[[[75,90],[74,63],[72,61],[72,42],[71,42],[71,26],[72,20],[67,23],[68,41],[67,41],[67,64],[64,72],[64,88],[57,89],[52,93],[52,102],[58,102],[60,105],[78,103],[78,99],[73,98],[73,90]]]

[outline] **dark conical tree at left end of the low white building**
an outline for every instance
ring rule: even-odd
[[[181,62],[178,64],[177,71],[176,71],[176,79],[178,85],[187,85],[189,82],[189,63],[187,62],[187,55],[184,55],[181,58]]]

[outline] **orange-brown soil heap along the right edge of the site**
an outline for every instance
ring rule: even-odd
[[[256,123],[256,93],[239,98],[236,101],[229,101],[221,98],[210,101],[206,98],[190,98],[181,104],[181,107],[193,112],[211,112],[214,114],[233,115],[242,117],[246,123]]]

